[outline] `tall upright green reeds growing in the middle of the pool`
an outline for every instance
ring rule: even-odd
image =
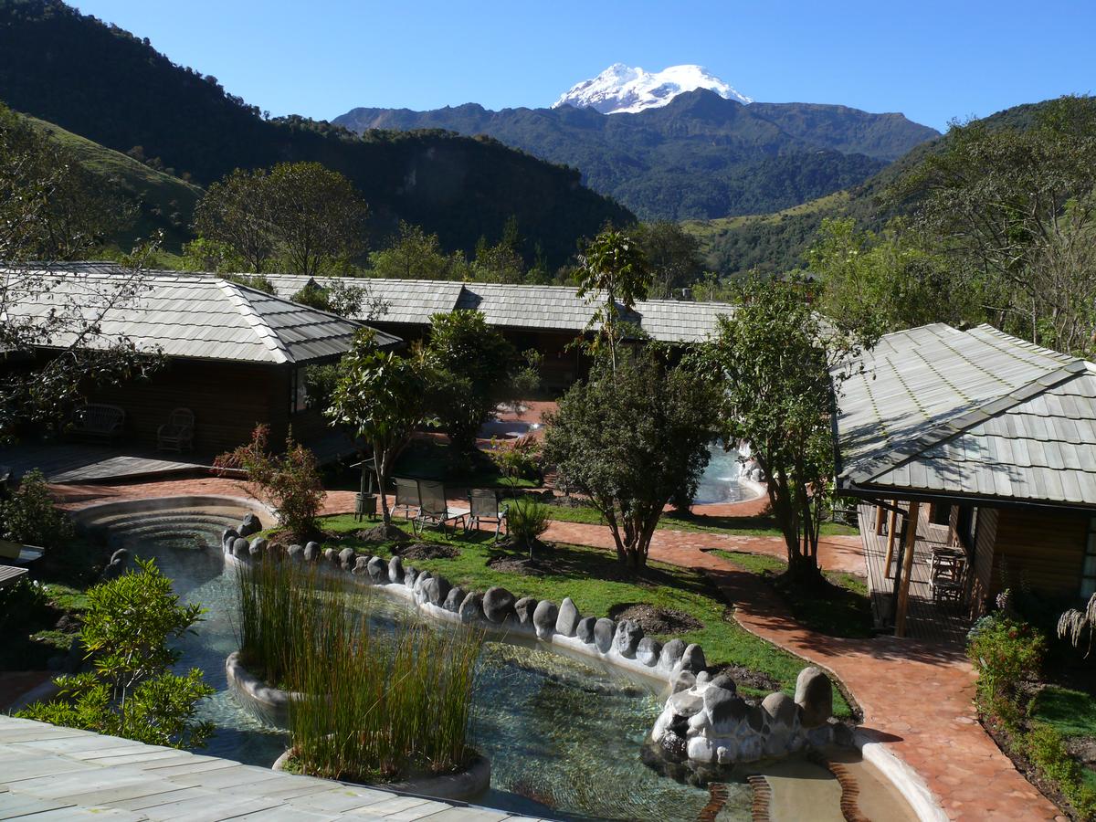
[[[378,618],[361,589],[293,562],[255,563],[240,580],[243,662],[296,694],[295,769],[385,783],[470,762],[482,637],[410,615]]]

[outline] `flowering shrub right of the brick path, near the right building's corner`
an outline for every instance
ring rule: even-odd
[[[1014,699],[1019,684],[1042,665],[1047,642],[1027,623],[991,617],[979,620],[969,636],[967,655],[978,670],[979,697],[986,705]]]

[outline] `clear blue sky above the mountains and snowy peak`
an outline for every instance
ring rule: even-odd
[[[272,114],[550,105],[612,62],[944,128],[1096,91],[1096,2],[76,0]]]

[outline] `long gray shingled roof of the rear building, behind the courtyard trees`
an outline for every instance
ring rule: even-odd
[[[299,290],[307,277],[270,277],[285,297]],[[322,284],[329,278],[319,277]],[[434,313],[456,308],[481,311],[491,326],[581,333],[595,306],[576,296],[574,286],[456,283],[434,279],[380,279],[342,277],[347,285],[367,285],[388,305],[377,322],[425,326]],[[626,319],[662,342],[697,342],[716,331],[717,317],[729,313],[726,302],[692,302],[671,299],[642,300]]]

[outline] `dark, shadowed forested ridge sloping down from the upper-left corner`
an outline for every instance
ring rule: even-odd
[[[438,130],[359,138],[304,117],[267,118],[216,78],[59,0],[0,0],[0,100],[203,185],[237,168],[320,162],[369,204],[374,239],[403,219],[470,251],[481,237],[498,241],[516,217],[529,258],[539,246],[559,264],[605,221],[633,219],[578,171],[495,140]]]

